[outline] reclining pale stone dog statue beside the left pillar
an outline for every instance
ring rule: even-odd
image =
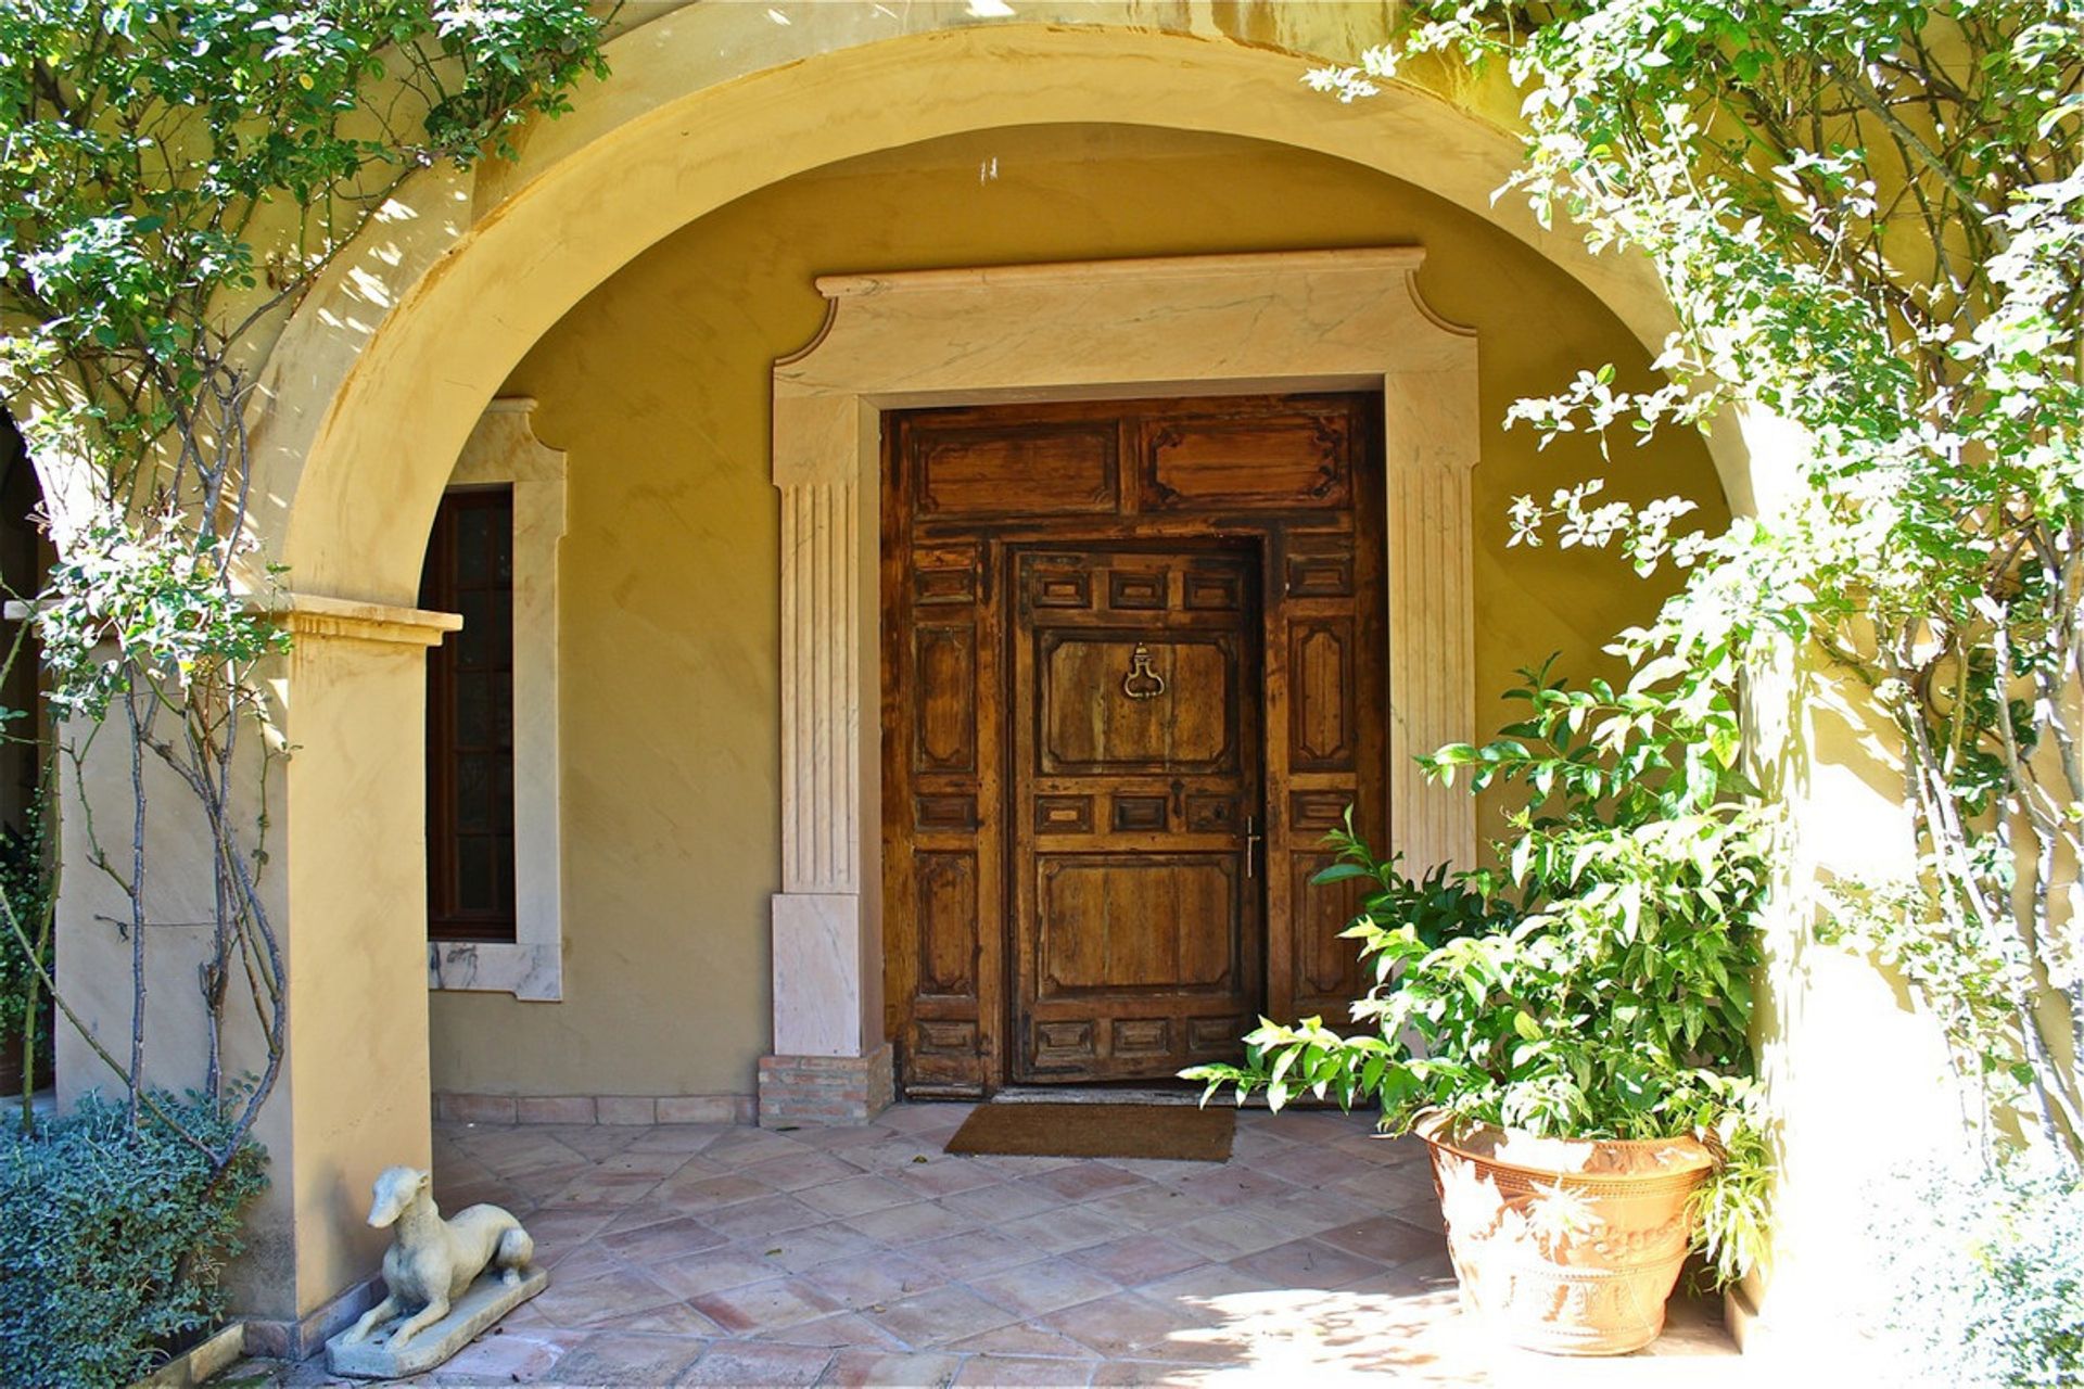
[[[390,1347],[398,1349],[406,1337],[448,1316],[450,1304],[463,1297],[488,1266],[498,1268],[500,1281],[513,1287],[536,1258],[536,1241],[498,1206],[467,1206],[452,1220],[444,1220],[433,1204],[429,1179],[429,1172],[411,1166],[383,1168],[377,1177],[369,1224],[379,1231],[398,1229],[392,1247],[383,1252],[383,1287],[390,1295],[363,1312],[354,1329],[342,1337],[344,1345],[417,1308],[392,1331]]]

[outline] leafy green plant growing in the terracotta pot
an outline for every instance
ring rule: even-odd
[[[1369,1033],[1261,1020],[1242,1066],[1186,1075],[1240,1102],[1373,1097],[1384,1127],[1425,1112],[1569,1139],[1692,1135],[1721,1160],[1703,1187],[1715,1277],[1763,1245],[1767,1147],[1753,1079],[1751,973],[1765,845],[1715,677],[1651,662],[1626,689],[1546,668],[1509,691],[1525,718],[1482,748],[1423,758],[1473,787],[1519,783],[1503,873],[1409,883],[1348,835],[1321,879],[1384,887],[1344,931],[1373,964],[1353,1006]]]

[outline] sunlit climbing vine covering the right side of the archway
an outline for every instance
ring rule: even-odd
[[[1613,448],[1734,412],[1792,427],[1786,500],[1721,535],[1598,479],[1521,498],[1517,544],[1688,571],[1636,662],[1736,691],[1796,643],[1894,723],[1917,866],[1840,883],[1959,1070],[2084,1164],[2084,4],[1419,4],[1392,48],[1523,98],[1511,190],[1655,264],[1661,383],[1584,371],[1511,419]],[[1986,1125],[1992,1152],[2017,1141]]]

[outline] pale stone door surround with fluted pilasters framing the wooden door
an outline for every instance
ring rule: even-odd
[[[773,369],[782,489],[782,891],[761,1122],[890,1097],[882,1002],[882,412],[1107,396],[1380,389],[1390,843],[1469,862],[1467,793],[1411,754],[1473,731],[1469,469],[1478,344],[1425,308],[1419,246],[825,275],[825,325]]]

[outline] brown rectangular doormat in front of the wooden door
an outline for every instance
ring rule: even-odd
[[[1227,1162],[1238,1116],[1190,1104],[979,1104],[948,1139],[952,1154],[1021,1158],[1169,1158]]]

